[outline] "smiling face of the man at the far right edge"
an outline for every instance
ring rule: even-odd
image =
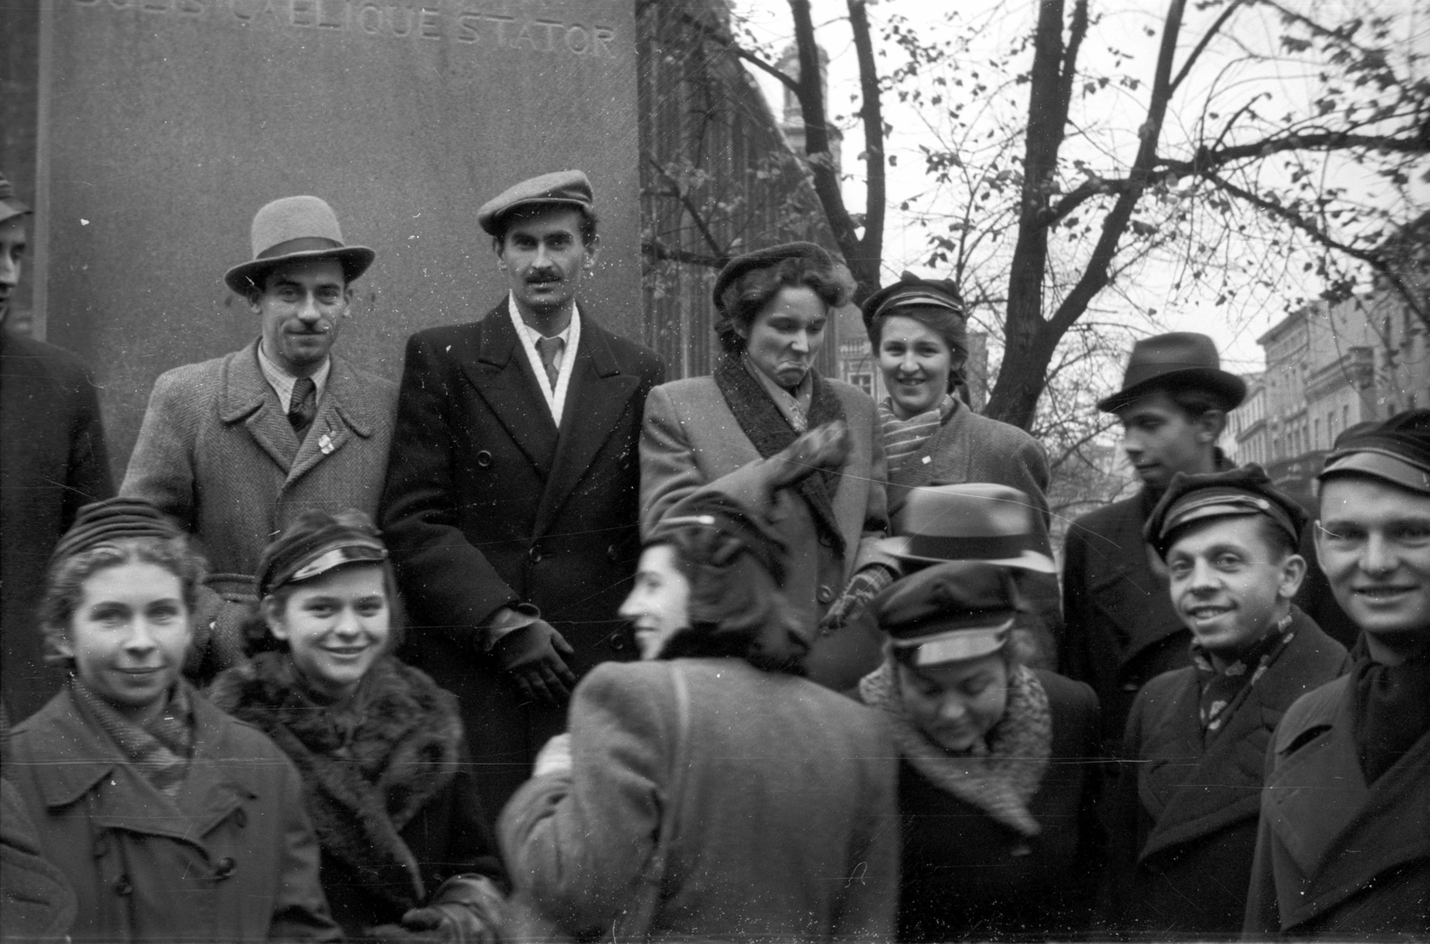
[[[1341,609],[1386,645],[1430,636],[1430,495],[1366,476],[1321,483],[1316,555]],[[1410,645],[1419,645],[1414,639]]]

